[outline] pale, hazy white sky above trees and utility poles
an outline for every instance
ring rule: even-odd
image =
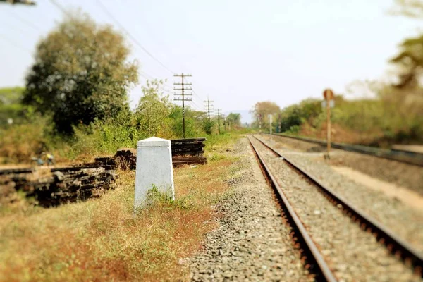
[[[194,109],[210,99],[223,113],[241,112],[243,122],[250,121],[247,111],[256,102],[283,108],[321,98],[326,87],[344,93],[354,80],[386,77],[398,44],[422,26],[388,15],[390,0],[35,1],[0,4],[0,87],[25,85],[35,45],[63,18],[56,3],[128,32],[142,46],[128,37],[129,60],[140,65],[131,106],[146,78],[166,79],[166,93],[172,94],[180,80],[173,74],[190,73]]]

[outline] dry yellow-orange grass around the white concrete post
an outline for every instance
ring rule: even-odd
[[[135,215],[133,171],[120,171],[118,188],[99,200],[51,209],[22,202],[2,207],[0,281],[187,280],[180,262],[216,227],[212,205],[240,170],[225,154],[235,139],[210,145],[219,158],[209,164],[174,170],[176,201],[157,197]]]

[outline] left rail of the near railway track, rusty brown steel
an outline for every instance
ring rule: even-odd
[[[307,252],[308,256],[306,255],[306,260],[307,262],[309,262],[309,264],[312,265],[312,268],[310,270],[314,274],[316,274],[316,281],[337,281],[331,269],[324,261],[324,258],[319,252],[319,249],[307,233],[304,225],[302,225],[300,218],[295,213],[293,207],[290,205],[288,198],[283,193],[281,187],[278,185],[276,178],[274,178],[273,174],[270,172],[269,167],[264,162],[264,159],[260,156],[255,145],[252,144],[251,140],[250,145],[252,146],[255,152],[255,155],[257,157],[257,160],[259,161],[260,166],[262,167],[262,171],[265,177],[269,181],[272,188],[274,188],[276,195],[279,197],[279,200],[283,202],[282,208],[291,223],[291,227],[293,227],[293,231],[296,233],[297,238],[300,240],[299,243],[302,245],[305,252]]]

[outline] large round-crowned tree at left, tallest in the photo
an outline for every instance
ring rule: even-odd
[[[23,103],[52,114],[62,133],[128,111],[126,91],[137,82],[136,64],[126,62],[129,52],[109,25],[80,13],[65,18],[37,45]]]

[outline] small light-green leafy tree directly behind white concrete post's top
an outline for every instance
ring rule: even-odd
[[[157,135],[171,113],[171,102],[161,92],[161,85],[161,80],[147,80],[147,86],[142,87],[144,95],[135,110],[137,128],[147,136]]]

